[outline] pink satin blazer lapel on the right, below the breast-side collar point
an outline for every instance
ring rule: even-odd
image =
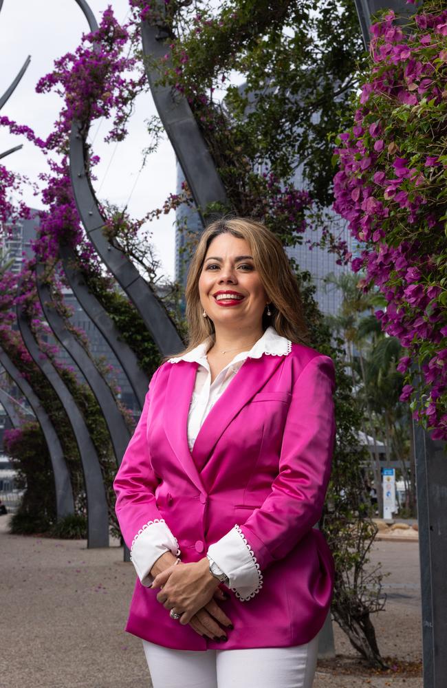
[[[232,419],[265,385],[283,361],[284,356],[261,356],[261,358],[247,358],[243,362],[226,390],[209,411],[195,438],[192,455],[199,471],[203,469],[216,442]]]

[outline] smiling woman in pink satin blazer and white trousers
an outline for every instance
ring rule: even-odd
[[[309,688],[334,565],[318,522],[334,364],[305,344],[279,239],[249,219],[201,235],[188,348],[155,371],[116,475],[138,574],[126,630],[154,688]]]

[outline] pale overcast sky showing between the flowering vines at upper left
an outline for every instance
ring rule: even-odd
[[[112,6],[120,23],[129,16],[129,0],[89,0],[98,21],[100,13],[108,5]],[[8,88],[28,54],[31,55],[31,64],[1,114],[32,127],[37,135],[45,138],[61,109],[61,100],[54,94],[36,94],[34,87],[41,76],[52,71],[56,58],[76,49],[81,35],[87,31],[87,22],[75,0],[4,0],[0,12],[0,94]],[[141,151],[148,143],[144,120],[155,112],[150,94],[139,96],[129,125],[129,136],[118,146],[102,142],[107,131],[105,122],[100,123],[99,129],[98,122],[95,122],[91,130],[94,153],[101,158],[96,167],[98,195],[119,206],[123,206],[131,195],[129,211],[134,217],[162,206],[168,194],[175,193],[175,155],[167,138],[138,175]],[[8,169],[37,180],[39,172],[47,167],[45,157],[25,138],[11,136],[6,129],[0,128],[0,152],[19,143],[23,143],[23,149],[1,162]],[[25,200],[32,207],[42,207],[40,199],[31,193]],[[171,211],[151,223],[153,243],[162,261],[164,275],[172,279],[175,265],[173,222],[174,213]]]

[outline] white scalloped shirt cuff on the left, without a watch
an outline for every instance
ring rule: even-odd
[[[131,546],[131,562],[135,566],[140,583],[146,588],[149,588],[153,581],[149,571],[155,561],[164,552],[169,551],[176,557],[180,555],[177,539],[169,530],[164,519],[156,518],[153,521],[148,521],[138,530]]]

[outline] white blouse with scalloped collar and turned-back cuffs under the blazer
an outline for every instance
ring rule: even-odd
[[[206,356],[211,343],[211,337],[208,337],[184,356],[169,359],[169,363],[179,361],[199,363],[188,412],[187,431],[190,450],[193,449],[195,438],[210,409],[226,390],[246,358],[261,358],[263,354],[286,356],[292,348],[290,340],[279,335],[274,327],[270,326],[250,351],[237,354],[211,383],[211,371]],[[179,555],[177,540],[164,521],[151,524],[148,528],[144,528],[139,537],[135,537],[131,548],[131,561],[141,583],[146,587],[151,585],[153,580],[149,574],[153,564],[168,550],[171,550],[173,555]],[[228,587],[239,599],[248,600],[261,590],[261,571],[239,526],[235,526],[220,540],[210,545],[208,554],[221,572],[226,574],[229,579]]]

